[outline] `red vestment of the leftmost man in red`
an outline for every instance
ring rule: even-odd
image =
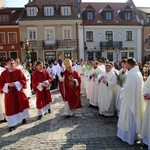
[[[8,93],[5,93],[5,113],[6,116],[12,116],[23,112],[29,108],[28,99],[23,91],[26,88],[26,79],[19,69],[9,72],[8,69],[2,72],[0,80],[0,90],[3,89],[5,83],[19,81],[22,89],[18,91],[16,87],[9,87]]]

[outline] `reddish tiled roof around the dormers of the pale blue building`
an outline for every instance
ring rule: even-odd
[[[84,20],[83,23],[85,25],[141,25],[140,23],[140,14],[136,9],[135,5],[130,3],[101,3],[101,2],[90,2],[90,3],[82,3],[81,10],[88,10],[89,5],[94,8],[95,11],[95,19],[92,21]],[[105,20],[101,14],[103,10],[112,10],[113,11],[113,19]],[[120,13],[124,10],[133,11],[133,19],[130,21],[124,20]],[[137,19],[139,18],[139,19]]]

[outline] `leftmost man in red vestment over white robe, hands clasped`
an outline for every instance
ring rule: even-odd
[[[5,113],[10,132],[18,123],[25,124],[29,117],[29,102],[24,93],[25,88],[25,76],[15,68],[14,60],[8,58],[7,69],[1,74],[0,90],[5,94]]]

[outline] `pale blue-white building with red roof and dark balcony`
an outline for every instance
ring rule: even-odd
[[[80,56],[117,61],[141,60],[142,17],[132,0],[126,3],[82,3]],[[83,38],[82,38],[83,36]]]

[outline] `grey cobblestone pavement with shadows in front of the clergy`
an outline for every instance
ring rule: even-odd
[[[51,114],[37,120],[35,96],[30,99],[27,124],[8,132],[6,123],[0,124],[0,149],[3,150],[140,150],[140,145],[129,146],[116,137],[117,117],[104,118],[98,110],[89,108],[82,96],[83,108],[71,118],[62,115],[63,101],[53,91]]]

